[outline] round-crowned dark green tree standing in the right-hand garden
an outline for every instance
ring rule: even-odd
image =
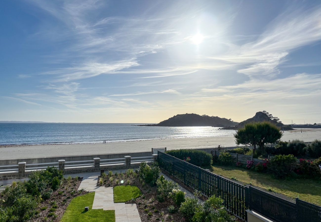
[[[280,129],[269,122],[248,123],[234,134],[236,144],[253,146],[253,153],[256,145],[263,151],[265,143],[274,143],[281,137]]]

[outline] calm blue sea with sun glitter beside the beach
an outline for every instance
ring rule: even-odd
[[[137,124],[135,124],[137,125]],[[218,127],[160,127],[133,124],[0,123],[0,145],[142,141],[231,136]]]

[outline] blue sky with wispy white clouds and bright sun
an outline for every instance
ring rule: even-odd
[[[320,1],[0,3],[0,120],[321,123]]]

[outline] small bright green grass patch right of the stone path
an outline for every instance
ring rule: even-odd
[[[136,186],[115,186],[114,187],[114,202],[122,203],[131,200],[132,198],[137,198],[142,193]]]

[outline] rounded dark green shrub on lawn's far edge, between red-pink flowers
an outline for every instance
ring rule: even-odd
[[[284,178],[290,175],[292,165],[296,162],[297,158],[293,155],[276,155],[272,158],[267,165],[268,170],[278,178]]]

